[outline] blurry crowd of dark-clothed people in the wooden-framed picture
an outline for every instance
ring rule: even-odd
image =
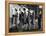
[[[25,32],[41,28],[41,14],[35,15],[35,10],[26,7],[15,8],[10,18],[10,31]]]

